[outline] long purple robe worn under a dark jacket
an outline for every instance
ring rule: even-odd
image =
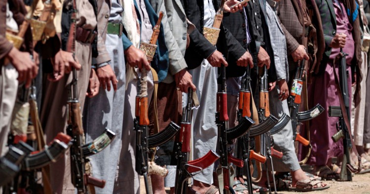
[[[337,3],[333,0],[333,7],[336,17],[336,32],[344,33],[347,35],[346,44],[343,48],[343,52],[347,53],[347,71],[348,71],[348,89],[350,99],[352,96],[351,92],[351,68],[350,64],[353,59],[355,44],[352,37],[352,26],[348,21],[347,14],[344,12],[341,14],[341,9]],[[345,11],[345,7],[342,2],[340,2],[342,10]],[[317,103],[320,103],[325,111],[310,121],[310,136],[312,150],[311,155],[307,161],[311,165],[326,165],[329,159],[333,157],[339,157],[343,155],[343,141],[339,140],[334,142],[332,140],[332,135],[337,132],[336,123],[338,122],[337,117],[329,117],[328,110],[329,106],[339,106],[339,91],[337,91],[333,66],[335,66],[335,71],[338,74],[338,65],[333,65],[333,60],[339,54],[340,48],[332,48],[332,53],[330,55],[330,61],[328,62],[325,72],[317,77],[313,78],[312,84],[308,86],[308,101],[309,106],[313,107]],[[350,107],[351,110],[351,107]],[[305,134],[302,131],[301,134]],[[302,150],[303,149],[303,150]],[[300,160],[305,158],[307,148],[300,145],[298,158]]]

